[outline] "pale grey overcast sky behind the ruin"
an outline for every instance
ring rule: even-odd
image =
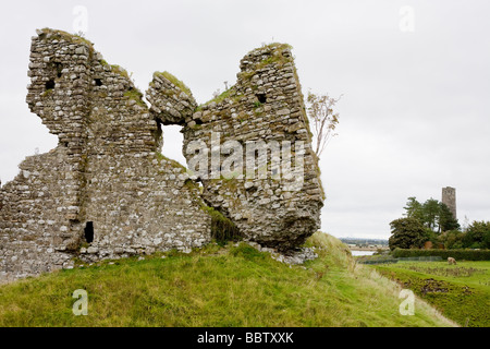
[[[25,103],[36,28],[86,37],[147,89],[170,71],[198,103],[236,81],[240,59],[272,41],[293,46],[308,88],[338,105],[339,136],[321,158],[322,230],[387,239],[408,196],[455,186],[457,218],[490,220],[488,1],[9,1],[0,10],[0,179],[56,147]],[[82,20],[82,21],[81,21]],[[184,161],[177,127],[163,153]]]

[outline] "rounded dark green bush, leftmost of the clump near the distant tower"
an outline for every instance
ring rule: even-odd
[[[426,229],[418,219],[399,218],[390,222],[391,237],[388,240],[390,250],[419,249],[427,241]]]

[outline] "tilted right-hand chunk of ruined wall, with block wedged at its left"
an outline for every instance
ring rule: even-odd
[[[162,84],[155,76],[147,92],[156,106],[150,112],[163,123],[173,120],[184,125],[183,151],[188,165],[196,158],[189,153],[193,145],[203,143],[207,149],[206,164],[201,164],[207,170],[193,173],[204,184],[205,201],[234,221],[250,241],[279,250],[301,245],[319,228],[323,192],[291,48],[273,44],[250,51],[241,61],[233,87],[194,113],[172,118],[161,111],[160,101],[171,106],[175,101],[169,95],[188,94],[175,92],[177,85],[167,87],[169,83]],[[226,156],[233,154],[228,144],[243,154],[236,159],[242,170],[235,173],[223,172]],[[289,172],[282,171],[287,161],[284,144],[291,145],[293,155]],[[257,161],[247,163],[249,145],[250,152],[256,145],[268,147],[266,158],[259,159],[257,153]],[[277,145],[281,149],[274,153]],[[296,158],[302,168],[296,167]],[[246,171],[247,166],[252,171]],[[264,176],[259,176],[260,170]]]

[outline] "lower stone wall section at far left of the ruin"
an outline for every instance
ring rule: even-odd
[[[68,156],[64,147],[29,156],[0,189],[0,281],[72,265]]]

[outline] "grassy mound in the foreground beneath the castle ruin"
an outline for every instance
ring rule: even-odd
[[[0,287],[0,326],[449,326],[424,303],[399,313],[400,287],[356,265],[339,240],[307,240],[319,258],[292,266],[245,243],[209,244],[60,270]],[[75,316],[73,291],[88,293]]]

